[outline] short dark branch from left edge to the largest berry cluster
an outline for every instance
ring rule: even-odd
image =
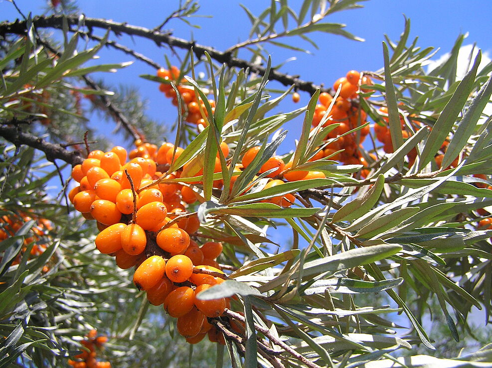
[[[1,123],[5,124],[7,122]],[[74,166],[84,161],[84,158],[80,152],[69,151],[61,144],[47,142],[46,140],[36,137],[30,133],[22,132],[14,126],[0,125],[0,136],[15,145],[25,144],[43,151],[46,155],[46,159],[51,162],[55,162],[55,159],[60,159]]]

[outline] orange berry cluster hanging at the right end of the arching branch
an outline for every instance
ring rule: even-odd
[[[372,81],[368,76],[361,76],[355,70],[351,70],[345,77],[339,78],[333,85],[335,91],[340,88],[338,97],[333,103],[333,97],[323,92],[320,94],[319,104],[316,106],[313,117],[313,126],[318,126],[323,121],[329,106],[333,106],[328,114],[328,119],[325,119],[323,126],[330,124],[339,124],[331,130],[326,139],[334,139],[323,150],[319,152],[319,158],[327,157],[333,160],[338,160],[345,164],[364,164],[366,162],[358,150],[358,145],[362,143],[367,134],[369,134],[369,126],[366,125],[358,132],[347,133],[360,125],[366,123],[367,114],[361,110],[355,100],[358,98],[358,91],[368,92],[369,90],[360,89],[360,85],[372,85]]]

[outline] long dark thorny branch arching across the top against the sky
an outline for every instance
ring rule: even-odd
[[[78,16],[67,16],[66,20],[69,25],[77,25],[79,23]],[[63,16],[52,15],[49,17],[36,16],[33,18],[34,26],[37,28],[62,28]],[[139,27],[127,23],[119,23],[107,19],[99,18],[84,18],[84,24],[89,28],[102,28],[111,29],[117,35],[125,33],[131,36],[139,36],[153,40],[161,46],[162,44],[169,45],[170,47],[177,47],[181,49],[190,50],[193,48],[193,52],[197,57],[204,55],[205,51],[210,54],[210,57],[220,63],[225,63],[229,67],[237,67],[246,69],[249,68],[253,73],[264,75],[266,70],[262,66],[250,63],[244,59],[236,58],[230,52],[221,52],[215,50],[212,47],[197,44],[195,42],[187,41],[182,38],[173,37],[169,33],[159,30],[153,30],[145,27]],[[7,33],[24,34],[26,28],[26,22],[16,20],[14,22],[2,22],[0,23],[0,35]],[[75,30],[73,30],[75,31]],[[268,76],[270,80],[276,80],[285,86],[294,85],[297,90],[306,91],[310,94],[314,94],[317,89],[321,89],[322,92],[330,92],[330,89],[322,88],[315,85],[312,82],[303,81],[296,76],[292,76],[285,73],[280,73],[276,70],[271,70]]]

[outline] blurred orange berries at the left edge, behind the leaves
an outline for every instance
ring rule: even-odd
[[[32,242],[35,242],[35,244],[30,250],[30,255],[37,256],[42,254],[48,246],[43,243],[43,239],[45,240],[49,232],[53,229],[53,224],[47,219],[38,218],[34,215],[27,215],[25,213],[20,213],[19,217],[7,215],[0,217],[0,241],[13,237],[17,230],[19,230],[24,223],[30,220],[36,221],[36,225],[31,228],[32,234],[24,238],[24,246],[12,264],[18,264],[20,262],[23,253],[27,250],[27,245]],[[43,271],[47,272],[48,267],[44,266]]]

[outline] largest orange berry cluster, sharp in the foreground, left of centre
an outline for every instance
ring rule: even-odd
[[[177,329],[188,342],[197,343],[206,334],[211,341],[220,342],[221,334],[207,318],[219,317],[229,301],[195,296],[224,280],[215,260],[222,244],[208,242],[200,247],[190,238],[199,222],[196,215],[186,216],[185,205],[196,201],[188,186],[154,182],[163,176],[158,169],[165,171],[183,150],[174,150],[171,143],[159,149],[154,144],[137,143],[129,162],[121,146],[90,152],[72,169],[79,186],[70,191],[69,198],[86,219],[97,221],[98,250],[115,256],[120,268],[135,266],[135,285],[147,292],[150,303],[164,304],[167,313],[177,318]],[[225,143],[221,145],[227,155],[225,147]],[[178,171],[166,178],[179,176]],[[167,225],[179,215],[184,216]]]

